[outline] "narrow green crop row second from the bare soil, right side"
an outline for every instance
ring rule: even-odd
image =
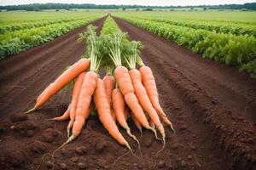
[[[239,35],[249,35],[256,37],[256,27],[255,26],[234,26],[229,25],[229,23],[221,22],[206,22],[200,20],[172,20],[172,19],[150,19],[159,22],[164,22],[172,24],[174,26],[188,26],[195,29],[203,29],[207,31],[216,31],[223,33],[231,33],[236,36]]]

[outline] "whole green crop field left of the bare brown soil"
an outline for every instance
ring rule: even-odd
[[[53,40],[103,15],[101,12],[3,12],[0,14],[0,59]]]

